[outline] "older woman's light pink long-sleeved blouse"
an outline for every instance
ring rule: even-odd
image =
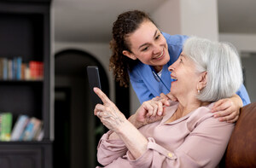
[[[129,157],[121,140],[108,140],[112,131],[102,136],[97,159],[106,167],[216,167],[224,155],[234,124],[220,122],[211,113],[212,104],[165,123],[175,113],[178,103],[166,107],[166,115],[139,131],[148,138],[148,150],[138,159]]]

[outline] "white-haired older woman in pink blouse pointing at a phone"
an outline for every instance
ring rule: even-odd
[[[233,96],[242,84],[241,62],[227,43],[189,38],[170,66],[177,101],[143,102],[130,119],[101,90],[94,113],[109,129],[98,144],[106,167],[216,167],[234,124],[219,122],[212,104]]]

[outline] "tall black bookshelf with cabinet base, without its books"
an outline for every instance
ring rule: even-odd
[[[20,114],[44,122],[40,142],[0,142],[1,167],[52,167],[49,130],[49,6],[50,0],[3,0],[0,2],[0,57],[23,62],[44,62],[40,80],[0,79],[0,112]]]

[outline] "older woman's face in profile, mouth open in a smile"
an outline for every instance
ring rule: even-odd
[[[171,71],[172,82],[171,93],[177,99],[195,96],[200,74],[195,70],[195,63],[182,52],[177,61],[168,67]]]

